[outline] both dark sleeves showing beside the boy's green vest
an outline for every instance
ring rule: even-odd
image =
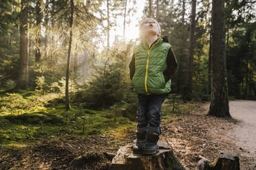
[[[165,83],[171,79],[171,77],[173,76],[177,68],[178,68],[178,62],[175,58],[175,54],[173,53],[173,50],[170,47],[167,53],[167,69],[163,72]],[[135,73],[135,55],[133,55],[131,58],[131,62],[129,64],[129,70],[130,70],[130,78],[132,80],[132,77],[134,77],[134,73]]]

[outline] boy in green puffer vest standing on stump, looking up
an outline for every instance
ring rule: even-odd
[[[160,37],[161,29],[155,19],[140,24],[140,44],[134,49],[129,64],[134,91],[138,93],[137,141],[135,154],[156,154],[160,129],[160,108],[171,92],[171,76],[177,60],[167,37]]]

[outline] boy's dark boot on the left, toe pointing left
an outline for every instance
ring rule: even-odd
[[[136,132],[136,136],[137,136],[137,141],[136,141],[136,145],[134,145],[133,148],[133,153],[134,154],[141,154],[142,153],[142,149],[145,147],[146,142],[147,142],[147,132]]]

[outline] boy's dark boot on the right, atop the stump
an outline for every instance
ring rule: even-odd
[[[159,134],[151,132],[147,134],[147,143],[145,148],[142,149],[142,154],[156,154],[159,150],[158,147]]]

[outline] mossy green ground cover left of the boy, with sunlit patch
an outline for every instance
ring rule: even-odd
[[[28,147],[43,138],[125,134],[127,129],[131,130],[136,125],[115,114],[114,110],[90,110],[72,105],[70,110],[65,110],[65,104],[45,107],[45,96],[37,96],[44,99],[39,101],[34,94],[28,93],[1,96],[1,147]]]

